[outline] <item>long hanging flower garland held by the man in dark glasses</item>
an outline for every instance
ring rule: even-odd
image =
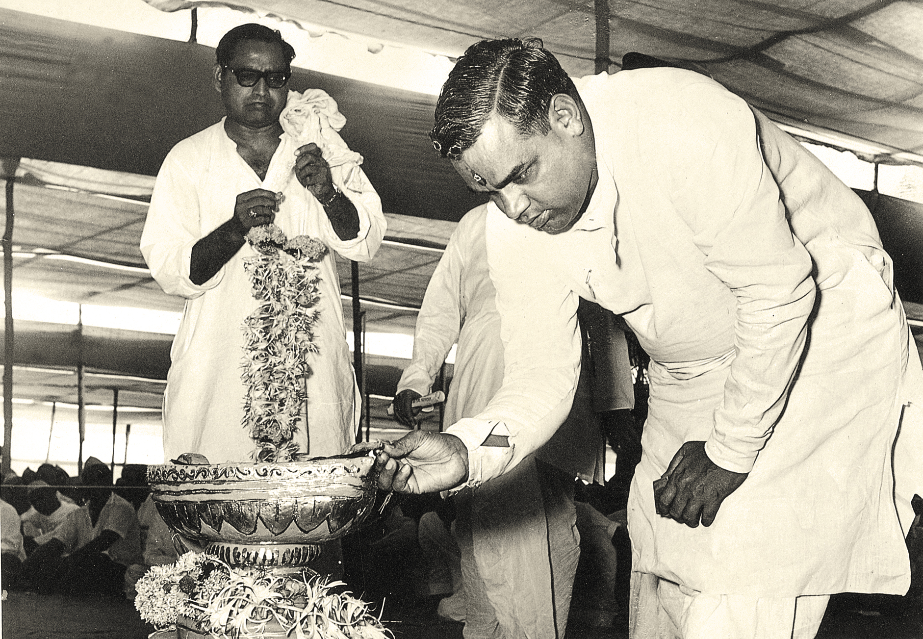
[[[307,356],[317,353],[312,327],[320,298],[316,262],[327,245],[314,237],[289,240],[275,224],[250,229],[257,255],[244,259],[259,305],[244,320],[241,379],[246,387],[244,428],[256,442],[258,462],[307,456],[294,441],[298,422],[307,430]]]

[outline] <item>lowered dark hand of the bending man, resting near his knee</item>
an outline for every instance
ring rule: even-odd
[[[732,473],[705,454],[704,441],[687,441],[673,456],[670,467],[653,482],[657,514],[690,528],[712,525],[725,497],[737,490],[747,473]]]

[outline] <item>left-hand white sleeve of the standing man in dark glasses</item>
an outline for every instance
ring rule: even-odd
[[[202,232],[198,185],[179,156],[174,149],[163,161],[150,197],[140,247],[151,276],[165,293],[192,298],[221,283],[224,267],[201,285],[189,279],[192,247],[213,229]],[[227,219],[233,214],[228,211]]]

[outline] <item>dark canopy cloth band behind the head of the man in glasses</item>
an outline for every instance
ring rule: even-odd
[[[223,115],[214,60],[199,44],[0,9],[0,157],[157,175]],[[457,221],[483,201],[430,146],[435,97],[305,69],[290,87],[336,99],[386,212]]]

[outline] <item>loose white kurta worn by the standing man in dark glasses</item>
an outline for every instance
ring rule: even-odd
[[[294,139],[283,133],[267,175],[272,175],[273,167],[296,148]],[[285,235],[317,237],[330,248],[315,262],[320,313],[314,341],[319,352],[308,362],[313,371],[307,380],[309,446],[304,428],[295,436],[301,450],[312,456],[343,452],[354,441],[360,415],[361,400],[346,343],[333,253],[356,261],[371,259],[386,223],[375,189],[361,171],[358,179],[361,189],[343,189],[359,213],[359,235],[350,240],[336,235],[318,200],[301,186],[294,173],[288,175],[283,187],[275,185],[274,189],[284,195],[275,224]],[[163,452],[167,459],[199,452],[216,464],[248,460],[254,450],[242,426],[245,387],[240,367],[243,323],[257,307],[244,259],[255,253],[245,244],[200,286],[189,280],[189,259],[200,238],[231,219],[238,194],[262,187],[258,175],[225,133],[223,120],[179,142],[157,176],[141,235],[141,252],[163,290],[186,297],[163,399]]]

